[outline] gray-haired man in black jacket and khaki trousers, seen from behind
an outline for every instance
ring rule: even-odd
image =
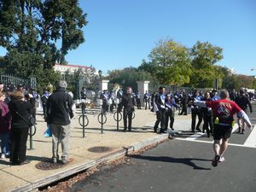
[[[57,90],[49,96],[47,101],[47,122],[50,124],[52,131],[53,163],[58,162],[58,144],[61,142],[61,162],[66,164],[68,162],[68,140],[71,129],[70,119],[73,118],[73,99],[66,92],[66,81],[59,81],[56,88]]]

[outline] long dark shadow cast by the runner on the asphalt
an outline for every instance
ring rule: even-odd
[[[152,161],[162,161],[167,163],[180,163],[187,166],[191,166],[195,170],[212,170],[211,168],[204,168],[201,166],[197,166],[193,162],[193,160],[200,160],[200,161],[212,161],[212,160],[204,160],[204,159],[198,159],[198,158],[176,158],[176,157],[167,157],[167,156],[143,156],[139,154],[131,154],[127,156],[134,159],[138,159],[138,160],[152,160]]]

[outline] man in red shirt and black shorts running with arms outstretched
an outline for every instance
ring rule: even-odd
[[[212,160],[212,166],[218,166],[218,162],[224,161],[224,152],[228,148],[228,140],[232,133],[232,122],[234,120],[234,114],[244,120],[249,128],[252,127],[250,119],[241,108],[238,107],[236,102],[232,102],[229,99],[229,92],[222,90],[220,92],[220,100],[218,101],[194,101],[194,104],[202,108],[212,108],[213,112],[213,150],[215,157]],[[222,143],[220,141],[222,140]]]

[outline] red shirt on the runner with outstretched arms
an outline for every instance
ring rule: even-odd
[[[236,104],[227,99],[221,99],[218,101],[206,102],[207,108],[212,108],[214,117],[230,116],[233,117],[235,113],[239,113],[241,108]],[[226,122],[230,123],[230,122]]]

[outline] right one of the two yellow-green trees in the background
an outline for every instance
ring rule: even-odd
[[[214,64],[223,59],[222,50],[208,42],[196,42],[190,50],[192,75],[189,85],[212,87],[213,80],[218,78],[218,67],[216,68]]]

